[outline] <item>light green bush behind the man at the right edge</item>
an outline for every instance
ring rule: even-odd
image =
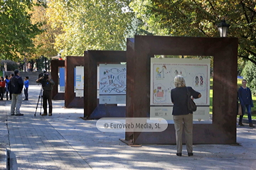
[[[242,70],[242,76],[247,80],[247,86],[251,89],[252,94],[256,95],[256,65],[252,62],[247,62]]]

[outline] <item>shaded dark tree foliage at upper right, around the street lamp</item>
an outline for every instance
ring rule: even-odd
[[[164,35],[218,37],[216,25],[224,18],[229,37],[239,38],[238,56],[256,64],[256,1],[134,0],[131,7],[142,28],[154,33],[158,24]]]

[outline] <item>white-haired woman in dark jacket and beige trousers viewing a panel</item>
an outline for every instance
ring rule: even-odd
[[[188,110],[188,93],[193,98],[201,98],[201,94],[186,86],[185,79],[178,75],[174,78],[175,89],[171,90],[171,102],[174,103],[174,128],[178,157],[182,155],[182,132],[184,128],[188,157],[193,156],[193,112]]]

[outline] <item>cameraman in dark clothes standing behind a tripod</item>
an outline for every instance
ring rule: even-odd
[[[43,74],[39,74],[39,79],[36,80],[36,83],[40,83],[43,86],[43,115],[47,115],[47,101],[49,104],[49,116],[53,113],[53,103],[52,103],[52,90],[54,82],[50,79],[48,73],[43,72]]]

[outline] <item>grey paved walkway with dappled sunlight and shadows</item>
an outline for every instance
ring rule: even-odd
[[[0,101],[0,142],[11,150],[11,169],[256,169],[256,128],[238,128],[240,145],[194,145],[193,157],[183,146],[184,157],[176,157],[175,145],[129,147],[119,141],[124,132],[100,132],[64,101],[53,101],[52,117],[40,116],[40,106],[35,117],[40,86],[28,91],[24,116],[11,116],[11,101]]]

